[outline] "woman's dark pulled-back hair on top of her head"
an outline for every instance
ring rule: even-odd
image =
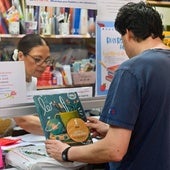
[[[41,45],[49,46],[47,41],[39,34],[27,34],[20,39],[17,49],[18,51],[22,51],[23,54],[26,55],[32,50],[32,48]]]

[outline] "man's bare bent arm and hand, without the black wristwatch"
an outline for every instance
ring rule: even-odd
[[[121,161],[127,152],[131,131],[115,126],[109,127],[107,135],[89,145],[73,146],[68,151],[68,160],[86,163]],[[68,145],[57,140],[47,140],[46,150],[49,156],[62,161],[61,154]]]

